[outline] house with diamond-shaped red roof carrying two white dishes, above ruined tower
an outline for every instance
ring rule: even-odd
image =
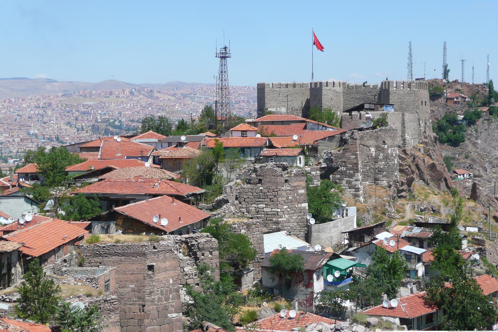
[[[154,216],[158,220],[154,221]],[[92,222],[93,234],[190,234],[207,225],[210,214],[174,197],[161,196],[114,208],[86,219]],[[162,221],[166,219],[167,221]]]

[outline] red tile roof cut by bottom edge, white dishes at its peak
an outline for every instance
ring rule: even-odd
[[[296,317],[291,318],[289,316],[290,310],[287,310],[285,314],[285,318],[280,316],[280,313],[271,315],[265,318],[260,319],[259,321],[250,323],[246,325],[246,327],[237,327],[237,331],[242,332],[247,327],[254,326],[256,331],[292,331],[292,328],[306,328],[311,324],[317,324],[320,322],[331,324],[332,321],[330,318],[318,316],[311,313],[306,313],[304,311],[296,312]],[[336,321],[339,323],[340,321]]]

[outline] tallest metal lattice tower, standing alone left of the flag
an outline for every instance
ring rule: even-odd
[[[228,85],[228,66],[227,59],[231,58],[230,48],[225,45],[216,52],[216,57],[220,58],[220,70],[218,72],[218,114],[220,114],[220,122],[224,127],[228,126],[232,118],[230,108],[230,86]]]

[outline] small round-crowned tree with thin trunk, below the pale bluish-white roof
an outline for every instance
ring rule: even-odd
[[[281,292],[285,289],[285,283],[291,279],[292,274],[304,272],[303,256],[298,253],[291,254],[286,248],[282,248],[269,257],[269,272],[276,276],[282,276]]]

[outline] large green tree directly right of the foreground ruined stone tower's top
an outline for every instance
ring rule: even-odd
[[[220,273],[229,275],[249,266],[256,257],[252,242],[244,234],[230,231],[230,224],[222,218],[214,218],[201,232],[210,233],[218,240],[220,251]]]

